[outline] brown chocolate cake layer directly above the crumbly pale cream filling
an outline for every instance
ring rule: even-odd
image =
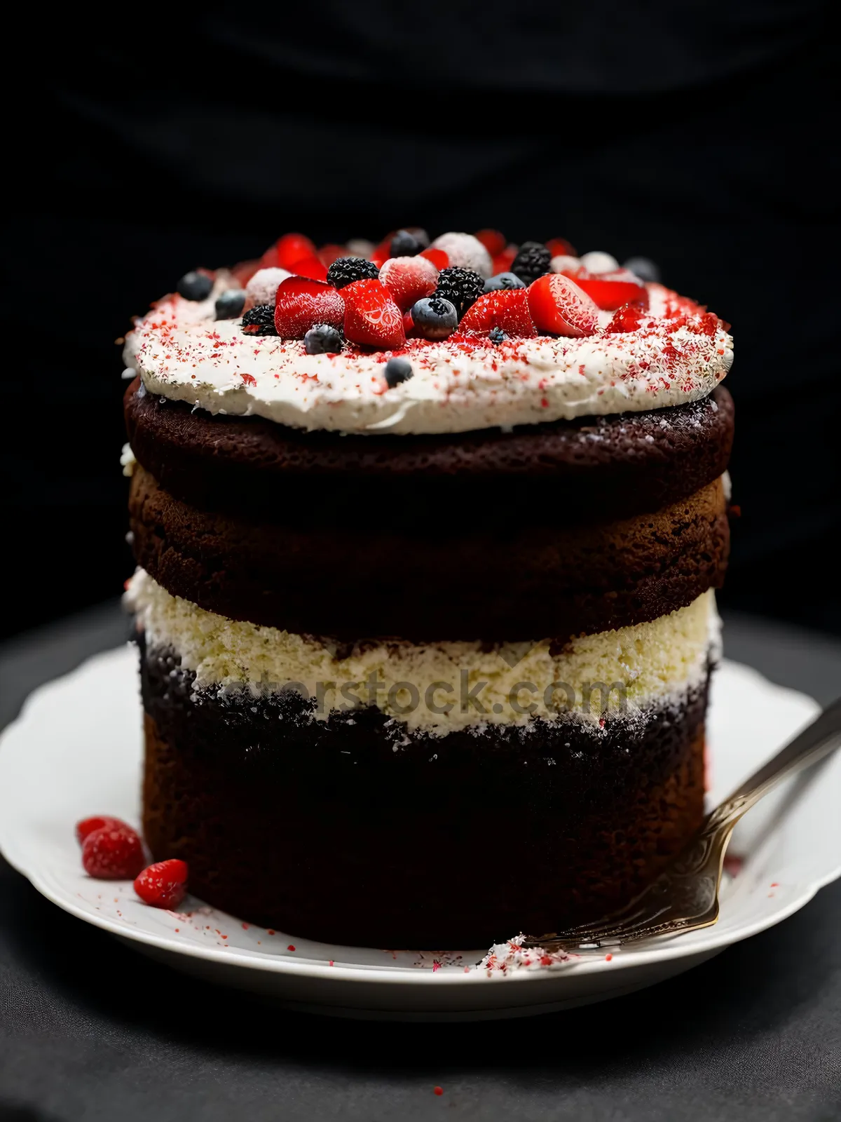
[[[567,526],[458,519],[445,536],[262,523],[173,498],[138,467],[138,564],[175,596],[233,619],[355,641],[498,641],[609,631],[722,583],[720,480],[655,514]]]

